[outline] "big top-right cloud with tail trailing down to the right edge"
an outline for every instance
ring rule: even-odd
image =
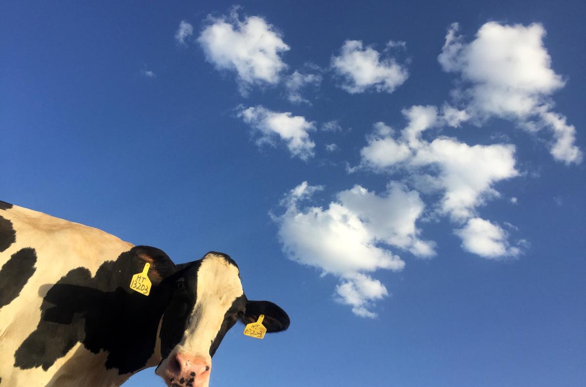
[[[551,57],[543,46],[545,34],[537,23],[488,22],[476,39],[466,43],[454,23],[438,61],[446,72],[461,74],[467,86],[456,94],[465,101],[467,114],[479,120],[508,118],[524,128],[548,128],[553,134],[553,157],[566,164],[579,163],[582,152],[574,145],[575,128],[550,111],[551,94],[565,82],[551,69]]]

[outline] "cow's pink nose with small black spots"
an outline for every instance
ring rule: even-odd
[[[210,364],[206,358],[188,352],[178,353],[169,362],[171,385],[186,387],[202,386],[210,376]],[[170,379],[171,379],[170,378]]]

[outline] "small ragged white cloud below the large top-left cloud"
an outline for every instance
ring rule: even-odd
[[[260,133],[257,145],[276,145],[277,140],[287,144],[292,156],[307,160],[314,157],[315,142],[309,138],[309,131],[315,130],[315,123],[302,116],[293,116],[290,111],[271,111],[263,106],[240,107],[238,116]]]

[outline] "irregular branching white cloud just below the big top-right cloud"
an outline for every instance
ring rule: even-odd
[[[475,215],[476,206],[499,196],[493,185],[517,176],[513,145],[468,145],[454,138],[428,142],[421,134],[447,123],[435,106],[413,106],[403,110],[408,120],[399,138],[383,123],[374,124],[376,134],[362,148],[361,166],[376,171],[406,168],[418,189],[441,190],[440,212],[463,221]],[[434,172],[434,173],[430,173]]]

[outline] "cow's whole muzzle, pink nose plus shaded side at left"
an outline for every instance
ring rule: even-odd
[[[176,352],[169,355],[166,364],[161,364],[155,373],[165,379],[169,387],[207,387],[211,368],[211,359]]]

